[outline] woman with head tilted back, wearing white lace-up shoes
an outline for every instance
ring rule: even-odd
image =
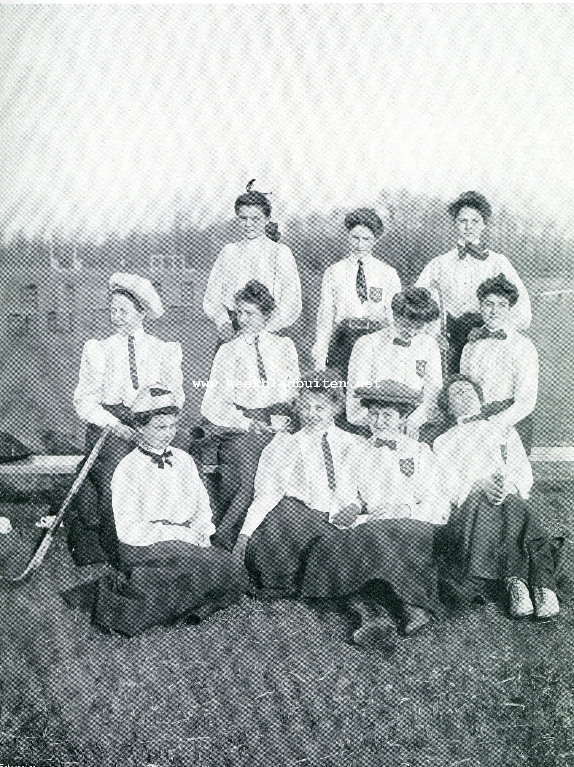
[[[434,446],[448,496],[458,507],[441,530],[441,555],[454,578],[462,578],[467,604],[488,581],[498,581],[507,588],[512,617],[536,612],[547,620],[559,605],[549,538],[526,503],[530,462],[517,431],[488,420],[483,401],[480,385],[463,374],[448,378],[438,395],[439,407],[457,420]]]

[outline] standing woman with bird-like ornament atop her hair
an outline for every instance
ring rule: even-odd
[[[251,183],[248,184],[251,189]],[[234,295],[248,280],[259,280],[275,298],[268,330],[288,328],[301,313],[301,284],[297,264],[287,245],[279,245],[271,222],[271,202],[261,192],[248,191],[235,200],[235,215],[243,239],[224,245],[209,275],[203,311],[218,328],[218,344],[233,341],[239,330]]]

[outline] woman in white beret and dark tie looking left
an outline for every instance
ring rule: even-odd
[[[120,460],[136,445],[130,407],[150,384],[165,384],[177,407],[183,393],[182,347],[159,341],[143,329],[145,318],[164,310],[152,283],[139,275],[116,272],[110,277],[110,314],[116,333],[84,344],[74,407],[87,421],[86,455],[108,423],[113,432],[74,502],[77,517],[68,528],[68,546],[77,565],[117,560],[110,482]]]

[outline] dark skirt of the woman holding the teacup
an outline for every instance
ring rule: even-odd
[[[241,408],[244,416],[271,425],[271,416],[288,416],[284,403],[259,410]],[[238,439],[229,439],[218,446],[218,489],[215,492],[215,534],[212,542],[232,551],[245,515],[253,502],[254,482],[259,459],[274,434],[244,433]]]

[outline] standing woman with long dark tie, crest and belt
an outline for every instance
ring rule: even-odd
[[[339,370],[346,380],[355,341],[385,328],[392,318],[391,301],[401,290],[392,266],[372,255],[382,235],[382,221],[372,208],[345,216],[350,254],[326,268],[317,314],[317,341],[311,350],[315,368]],[[339,426],[346,428],[344,416]]]

